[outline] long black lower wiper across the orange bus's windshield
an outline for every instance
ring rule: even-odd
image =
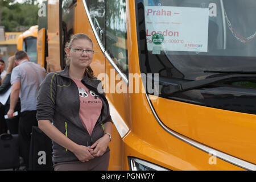
[[[214,77],[214,78],[207,78],[207,79],[203,79],[203,80],[188,81],[188,82],[184,82],[182,84],[165,86],[162,91],[164,94],[171,96],[172,94],[177,93],[177,92],[184,92],[187,90],[201,88],[205,85],[213,84],[214,82],[225,80],[228,78],[234,78],[234,77],[256,77],[256,74],[247,74],[247,75],[246,74],[232,74],[232,75],[225,75],[225,76]]]

